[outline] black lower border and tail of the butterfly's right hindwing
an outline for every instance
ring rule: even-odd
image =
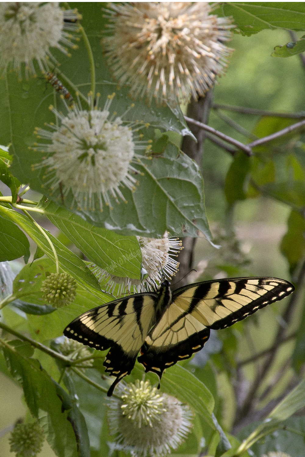
[[[138,357],[145,368],[145,372],[153,372],[160,380],[166,368],[172,367],[178,361],[189,359],[195,352],[200,351],[210,337],[210,329],[203,329],[190,335],[187,340],[181,341],[175,345],[161,346],[158,348],[150,337],[147,337],[141,348],[141,356]]]

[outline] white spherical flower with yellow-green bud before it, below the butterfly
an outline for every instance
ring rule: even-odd
[[[161,457],[177,449],[189,434],[192,413],[170,395],[157,393],[147,381],[118,385],[121,400],[112,398],[107,419],[114,449],[133,457]]]

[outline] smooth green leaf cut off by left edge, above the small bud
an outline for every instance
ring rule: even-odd
[[[2,205],[0,213],[5,215],[5,208]],[[15,260],[22,256],[27,263],[30,257],[30,243],[26,235],[16,224],[0,215],[0,262]]]

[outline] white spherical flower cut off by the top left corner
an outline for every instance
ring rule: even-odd
[[[73,37],[63,29],[77,30],[74,22],[80,18],[77,10],[63,11],[58,2],[0,3],[0,74],[13,68],[21,79],[24,63],[26,77],[35,75],[33,59],[41,71],[47,71],[48,58],[58,63],[49,48],[58,48],[66,55],[64,46],[76,48],[70,41]]]

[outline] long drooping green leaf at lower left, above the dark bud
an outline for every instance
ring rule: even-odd
[[[68,394],[47,374],[37,360],[26,359],[13,349],[4,349],[12,376],[23,387],[26,404],[46,430],[47,441],[58,457],[77,457],[77,442],[69,422]],[[70,416],[69,416],[70,417]]]

